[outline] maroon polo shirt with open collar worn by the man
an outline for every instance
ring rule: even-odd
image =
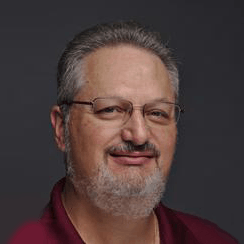
[[[60,180],[40,220],[21,227],[9,244],[85,244],[71,223],[61,200],[65,179]],[[171,210],[163,204],[155,209],[161,244],[237,244],[215,224]]]

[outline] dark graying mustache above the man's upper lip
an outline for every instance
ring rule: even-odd
[[[112,154],[114,152],[151,152],[154,157],[159,157],[161,152],[156,146],[150,142],[145,142],[141,145],[136,145],[131,141],[123,142],[123,144],[109,147],[106,152]]]

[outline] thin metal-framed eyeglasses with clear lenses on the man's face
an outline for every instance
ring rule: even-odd
[[[122,126],[131,117],[133,110],[140,109],[148,126],[170,125],[177,123],[180,113],[184,109],[179,104],[156,100],[143,106],[133,106],[132,102],[119,97],[98,97],[92,101],[70,101],[62,102],[60,105],[90,105],[93,114],[104,123],[110,126]]]

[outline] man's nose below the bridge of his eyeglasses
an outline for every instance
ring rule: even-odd
[[[121,131],[123,141],[131,141],[135,145],[142,145],[148,141],[149,128],[146,125],[141,109],[134,109],[130,119]]]

